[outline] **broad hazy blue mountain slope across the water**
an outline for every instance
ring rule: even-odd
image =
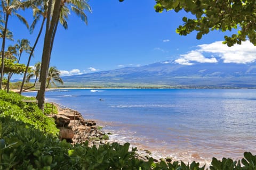
[[[63,87],[255,88],[256,62],[182,65],[164,61],[62,79]]]

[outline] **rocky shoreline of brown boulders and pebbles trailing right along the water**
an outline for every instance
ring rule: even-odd
[[[78,111],[76,111],[76,116],[79,118],[75,118],[75,114],[73,113],[74,111],[71,111],[69,108],[58,108],[58,114],[60,116],[66,116],[70,118],[70,125],[74,131],[74,138],[73,138],[73,143],[81,143],[81,142],[85,142],[85,141],[89,141],[89,146],[98,146],[98,145],[102,145],[102,144],[106,144],[106,143],[120,143],[121,145],[124,145],[124,143],[126,143],[127,141],[120,141],[120,140],[114,140],[111,139],[111,135],[115,135],[115,134],[111,134],[109,132],[106,132],[104,130],[106,122],[103,123],[103,121],[99,121],[99,120],[90,120],[90,119],[85,119],[83,117],[83,115],[81,113],[79,113]],[[74,116],[73,116],[74,114]],[[79,123],[80,121],[85,122],[85,123]],[[99,128],[100,127],[100,128]],[[101,129],[103,128],[103,129]],[[105,135],[108,135],[108,139],[104,139]],[[98,138],[98,140],[96,139]],[[129,142],[130,143],[130,142]],[[155,162],[159,162],[161,159],[165,159],[166,161],[169,160],[169,157],[163,157],[163,156],[159,156],[159,154],[156,154],[154,152],[151,152],[149,149],[146,148],[138,148],[137,146],[132,145],[132,143],[130,143],[130,150],[132,150],[132,148],[137,148],[136,151],[136,156],[142,160],[147,161],[148,158],[152,157],[154,159]]]

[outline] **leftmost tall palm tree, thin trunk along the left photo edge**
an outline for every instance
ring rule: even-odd
[[[21,7],[22,3],[19,0],[2,0],[1,1],[3,13],[4,13],[4,31],[3,31],[3,43],[2,43],[2,70],[1,70],[1,77],[0,77],[0,89],[2,89],[2,80],[4,75],[4,49],[5,49],[5,38],[6,38],[6,32],[7,32],[7,24],[9,20],[10,15],[15,15],[18,17],[20,21],[26,24],[27,28],[29,28],[29,25],[25,18],[23,18],[21,15],[16,13],[18,8]]]

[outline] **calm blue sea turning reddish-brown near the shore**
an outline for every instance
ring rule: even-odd
[[[163,157],[210,162],[256,155],[256,89],[72,89],[46,98],[98,120],[111,141]]]

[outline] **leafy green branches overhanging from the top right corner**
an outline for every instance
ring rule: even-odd
[[[122,0],[119,0],[122,2]],[[190,12],[195,19],[185,16],[176,32],[186,36],[190,32],[197,31],[197,39],[213,30],[225,32],[237,30],[231,36],[225,36],[223,44],[229,47],[250,40],[256,46],[256,4],[255,0],[156,0],[156,12],[164,10],[181,10]]]

